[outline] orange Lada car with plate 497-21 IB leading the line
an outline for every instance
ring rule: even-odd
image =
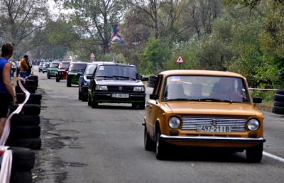
[[[168,145],[246,151],[261,162],[263,113],[246,78],[233,72],[168,70],[158,74],[146,104],[144,145],[165,158]]]

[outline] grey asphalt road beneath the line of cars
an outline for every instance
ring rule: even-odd
[[[261,163],[246,162],[245,153],[197,149],[175,150],[160,161],[143,147],[143,110],[92,109],[78,100],[76,85],[47,79],[37,68],[43,143],[35,150],[34,182],[284,182],[284,116],[263,112]]]

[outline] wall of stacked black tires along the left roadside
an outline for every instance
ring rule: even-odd
[[[41,148],[40,139],[40,100],[41,94],[35,94],[38,88],[38,77],[32,76],[21,81],[23,87],[30,92],[26,104],[20,113],[11,117],[11,130],[5,145],[12,151],[12,168],[10,182],[32,182],[32,172],[35,165],[35,152]],[[18,85],[15,86],[17,104],[11,106],[10,114],[19,104],[23,104],[26,94]],[[1,182],[1,181],[0,181]]]

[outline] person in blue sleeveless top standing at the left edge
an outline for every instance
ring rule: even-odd
[[[5,42],[0,56],[0,137],[8,116],[9,106],[16,104],[16,94],[11,84],[12,65],[8,61],[13,55],[13,43]]]

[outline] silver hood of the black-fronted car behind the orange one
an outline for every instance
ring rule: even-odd
[[[99,85],[107,86],[142,86],[143,82],[141,80],[117,80],[117,79],[96,79],[96,83]]]

